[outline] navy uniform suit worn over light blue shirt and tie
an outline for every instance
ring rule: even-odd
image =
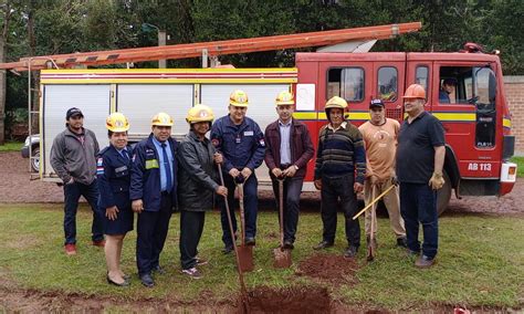
[[[153,134],[138,143],[133,155],[132,182],[129,198],[142,199],[144,211],[138,214],[136,263],[138,274],[150,274],[158,268],[160,252],[166,242],[169,219],[177,206],[177,142],[168,138],[172,158],[169,160],[172,171],[170,191],[161,191],[159,151],[153,143]],[[161,151],[160,151],[161,153]]]

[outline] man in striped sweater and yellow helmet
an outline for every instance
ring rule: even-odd
[[[321,128],[315,160],[315,187],[322,193],[322,222],[324,232],[315,250],[333,247],[336,232],[337,207],[342,206],[346,221],[348,248],[345,258],[355,258],[360,247],[360,226],[353,220],[357,211],[357,192],[364,189],[366,155],[363,136],[347,122],[344,113],[347,102],[334,96],[325,111],[329,124]]]

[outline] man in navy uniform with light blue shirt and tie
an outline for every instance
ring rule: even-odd
[[[142,283],[153,287],[151,273],[163,274],[160,252],[169,219],[177,206],[177,142],[171,138],[172,118],[166,113],[153,117],[151,134],[135,147],[129,198],[138,213],[136,263]]]

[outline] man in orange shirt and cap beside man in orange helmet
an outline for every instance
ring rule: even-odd
[[[395,181],[395,154],[397,150],[397,137],[400,124],[386,117],[384,102],[373,100],[369,104],[370,119],[360,125],[358,129],[363,134],[366,146],[366,181],[364,182],[364,200],[366,206],[374,198],[388,190]],[[397,237],[397,245],[406,248],[406,229],[400,217],[400,203],[398,187],[384,196],[384,205],[389,214],[389,223]],[[373,218],[375,212],[367,210],[365,213],[366,242],[376,247],[377,220]],[[371,226],[373,223],[373,226]],[[373,230],[373,232],[371,232]]]

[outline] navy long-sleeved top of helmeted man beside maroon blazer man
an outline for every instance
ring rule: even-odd
[[[217,119],[211,128],[211,143],[222,153],[223,169],[228,172],[244,167],[254,172],[264,160],[264,134],[249,117],[240,125],[234,125],[229,115]]]

